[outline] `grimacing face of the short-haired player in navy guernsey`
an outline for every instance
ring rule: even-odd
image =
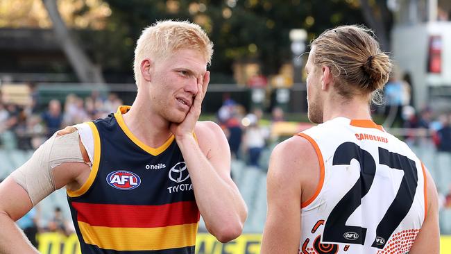
[[[185,119],[198,92],[198,78],[203,78],[207,61],[191,49],[180,49],[155,61],[151,75],[151,107],[163,119],[180,123]]]

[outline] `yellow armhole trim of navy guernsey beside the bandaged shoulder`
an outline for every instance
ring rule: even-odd
[[[74,198],[76,196],[81,196],[87,192],[88,189],[90,189],[92,183],[94,183],[94,179],[97,176],[97,171],[99,171],[99,164],[100,164],[100,136],[99,131],[97,130],[96,125],[92,121],[88,121],[87,125],[90,126],[92,130],[92,136],[94,138],[94,162],[92,162],[92,169],[90,172],[90,176],[88,176],[86,182],[80,187],[80,189],[77,189],[76,191],[67,190],[67,196],[70,196],[71,198]]]

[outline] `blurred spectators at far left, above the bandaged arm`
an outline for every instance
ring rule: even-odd
[[[85,98],[68,94],[64,101],[52,99],[42,109],[39,98],[35,94],[31,97],[28,105],[0,101],[0,142],[4,149],[35,150],[57,130],[105,117],[123,104],[117,94],[104,98],[96,90]]]

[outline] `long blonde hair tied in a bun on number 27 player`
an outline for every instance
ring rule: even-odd
[[[381,51],[373,31],[364,26],[327,30],[311,46],[315,46],[314,64],[330,67],[335,87],[346,99],[356,93],[373,94],[374,101],[389,79],[391,60]]]

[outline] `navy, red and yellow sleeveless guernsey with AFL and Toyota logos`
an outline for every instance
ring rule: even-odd
[[[92,170],[67,192],[81,251],[194,254],[200,214],[182,153],[173,136],[158,149],[139,142],[124,124],[128,109],[87,123]]]

